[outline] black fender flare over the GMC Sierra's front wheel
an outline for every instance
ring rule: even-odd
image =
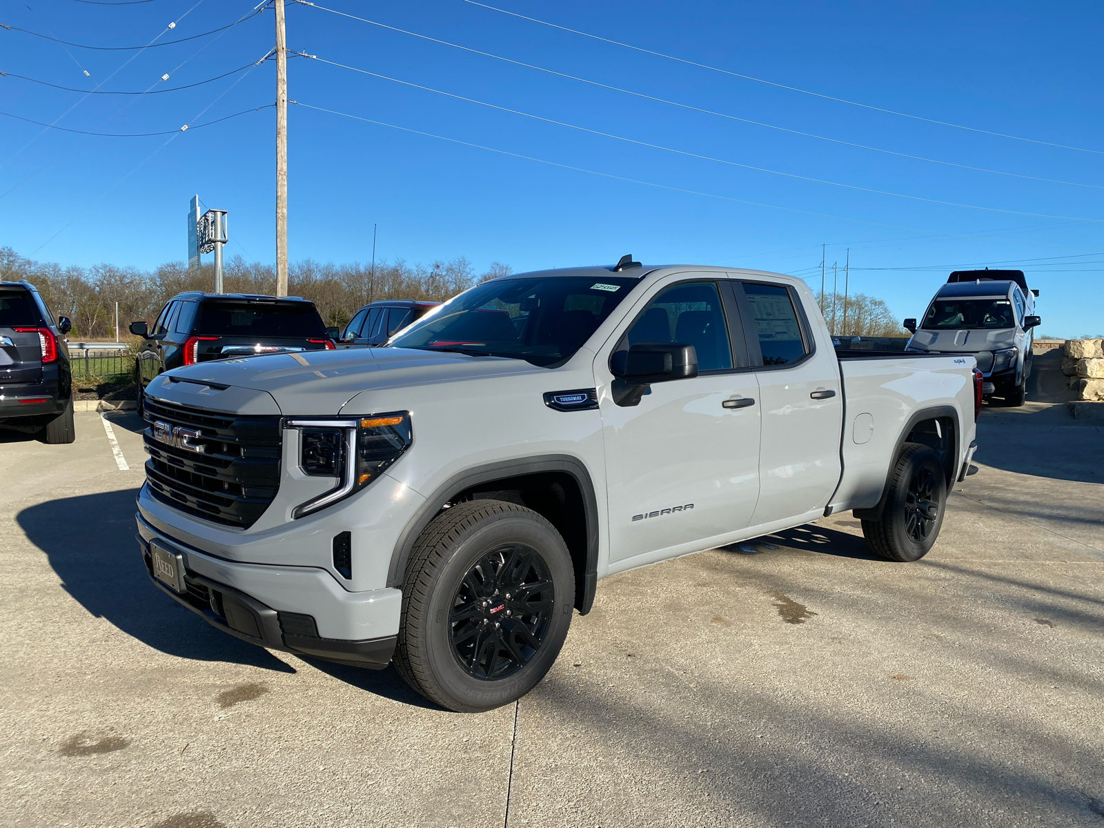
[[[583,497],[583,510],[586,520],[586,562],[583,572],[582,588],[576,584],[575,607],[581,615],[591,612],[594,605],[594,593],[598,583],[598,501],[594,492],[591,473],[577,457],[571,455],[538,455],[511,460],[500,460],[474,466],[453,475],[426,498],[426,501],[406,523],[395,548],[391,553],[391,564],[388,567],[388,586],[402,587],[406,575],[406,562],[410,560],[414,542],[429,522],[437,517],[452,498],[465,489],[505,477],[520,477],[546,471],[563,471],[570,475],[578,486]]]

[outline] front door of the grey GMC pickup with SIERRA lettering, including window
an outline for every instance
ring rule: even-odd
[[[609,351],[595,361],[604,385],[609,560],[625,569],[692,551],[680,546],[703,549],[749,524],[758,497],[761,406],[739,311],[712,274],[678,274],[658,286],[615,341],[615,352],[637,342],[692,344],[699,370],[619,406],[609,393]]]

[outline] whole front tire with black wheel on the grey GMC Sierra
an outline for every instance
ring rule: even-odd
[[[519,581],[527,590],[522,601]],[[560,655],[574,597],[571,553],[544,518],[502,500],[459,503],[414,543],[395,668],[448,710],[509,704],[533,689]]]

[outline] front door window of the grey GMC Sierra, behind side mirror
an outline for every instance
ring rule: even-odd
[[[693,282],[664,290],[633,322],[615,353],[638,342],[692,344],[699,372],[731,369],[732,347],[716,284]]]

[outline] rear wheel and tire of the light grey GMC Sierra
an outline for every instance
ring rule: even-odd
[[[919,561],[935,545],[943,526],[947,500],[943,463],[934,449],[905,443],[892,475],[882,517],[863,520],[862,534],[887,561]]]

